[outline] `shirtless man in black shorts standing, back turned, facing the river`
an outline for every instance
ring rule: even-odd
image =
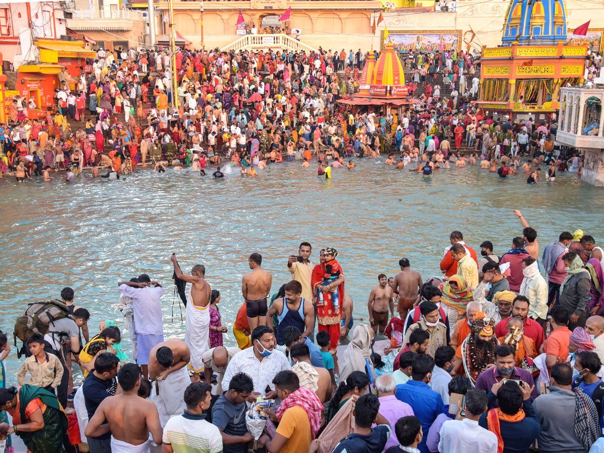
[[[266,297],[271,292],[272,275],[262,269],[262,255],[259,253],[249,255],[248,263],[252,271],[243,275],[241,291],[247,303],[249,331],[254,332],[256,327],[266,326]]]

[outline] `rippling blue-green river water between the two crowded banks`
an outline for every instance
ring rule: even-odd
[[[101,320],[116,319],[123,327],[117,281],[146,272],[166,289],[166,336],[184,338],[172,252],[184,272],[205,265],[211,287],[222,294],[225,343],[234,344],[231,327],[252,252],[263,255],[274,292],[289,281],[287,257],[301,241],[312,244],[311,260],[321,247],[335,247],[355,318],[366,321],[378,274],[394,275],[399,259],[407,257],[422,277],[441,275],[439,261],[452,230],[462,231],[475,249],[491,240],[501,255],[521,234],[514,208],[538,231],[541,248],[576,228],[604,242],[604,190],[576,175],[562,173],[555,183],[538,186],[525,184],[524,174],[500,179],[477,167],[425,177],[394,170],[383,159],[359,160],[353,171],[333,170],[331,180],[318,178],[315,164],[302,169],[299,162],[259,170],[256,178],[229,167],[218,181],[172,169],[143,170],[120,181],[84,174],[74,184],[0,180],[0,329],[12,342],[14,320],[25,304],[59,298],[64,286],[91,311],[91,334]],[[18,366],[13,350],[8,375]]]

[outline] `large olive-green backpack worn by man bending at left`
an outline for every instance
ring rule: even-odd
[[[17,339],[23,342],[21,349],[17,351],[18,358],[21,358],[25,351],[25,342],[34,333],[45,335],[50,330],[50,323],[63,318],[69,318],[69,307],[63,301],[57,299],[42,299],[30,303],[27,310],[17,318],[14,323],[14,345],[17,345]]]

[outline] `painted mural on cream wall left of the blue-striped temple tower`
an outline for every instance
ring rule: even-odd
[[[461,31],[458,30],[389,30],[389,32],[394,50],[399,53],[443,52],[460,48]],[[382,50],[383,48],[382,36]]]

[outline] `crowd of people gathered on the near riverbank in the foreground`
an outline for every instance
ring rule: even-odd
[[[602,452],[604,249],[582,230],[543,247],[513,214],[520,234],[501,255],[494,237],[477,254],[453,231],[442,276],[406,258],[377,275],[367,324],[353,318],[345,251],[315,262],[307,242],[277,284],[249,255],[234,320],[205,265],[185,273],[173,254],[184,341],[164,338],[165,290],[147,274],[118,283],[124,319],[98,333],[66,287],[15,324],[27,358],[16,382],[2,373],[0,432],[32,453]],[[11,352],[4,334],[0,348]]]

